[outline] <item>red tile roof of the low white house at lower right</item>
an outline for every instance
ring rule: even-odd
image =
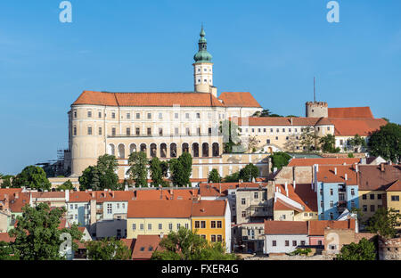
[[[266,234],[307,234],[307,221],[265,220]]]

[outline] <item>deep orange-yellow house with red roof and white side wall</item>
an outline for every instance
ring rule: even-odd
[[[192,204],[192,231],[209,242],[225,242],[231,252],[231,209],[227,200],[198,200]]]

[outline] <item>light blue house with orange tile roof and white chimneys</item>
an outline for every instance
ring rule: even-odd
[[[348,208],[359,208],[357,165],[314,167],[319,220],[336,220]]]

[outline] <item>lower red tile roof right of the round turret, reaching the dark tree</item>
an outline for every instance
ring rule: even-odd
[[[334,124],[336,136],[368,136],[381,126],[386,126],[384,119],[330,119]]]

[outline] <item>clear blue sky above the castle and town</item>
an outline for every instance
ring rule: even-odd
[[[401,1],[61,0],[0,3],[0,173],[68,147],[70,104],[83,90],[191,91],[201,22],[214,85],[249,91],[274,113],[370,106],[401,122]]]

